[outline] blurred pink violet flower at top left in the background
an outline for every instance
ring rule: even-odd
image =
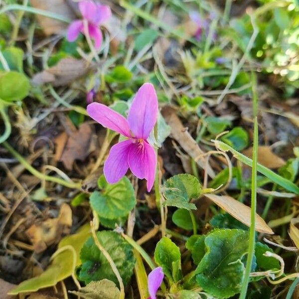
[[[87,22],[88,34],[95,42],[95,48],[98,50],[102,43],[102,32],[99,26],[108,20],[111,16],[111,10],[108,5],[96,4],[92,0],[83,0],[79,2],[79,10],[83,19],[74,20],[67,29],[66,38],[68,41],[75,41],[80,32],[84,32],[84,21]]]

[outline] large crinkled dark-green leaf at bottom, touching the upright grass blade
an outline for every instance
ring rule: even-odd
[[[219,229],[205,237],[205,255],[195,273],[198,285],[217,298],[240,292],[245,267],[242,257],[248,251],[248,232]]]

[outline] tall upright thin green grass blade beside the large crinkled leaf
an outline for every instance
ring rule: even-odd
[[[241,294],[239,299],[245,299],[247,288],[249,284],[249,276],[251,271],[251,265],[254,258],[254,248],[255,248],[255,215],[256,215],[256,205],[257,205],[257,165],[258,165],[258,120],[257,117],[254,121],[253,130],[253,153],[252,153],[252,175],[251,175],[251,218],[250,218],[250,230],[249,230],[249,245],[248,245],[248,255],[246,262],[246,270],[244,281],[241,289]]]

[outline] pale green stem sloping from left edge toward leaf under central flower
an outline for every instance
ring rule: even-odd
[[[34,176],[38,177],[41,180],[46,180],[46,181],[51,181],[54,183],[58,183],[60,185],[63,185],[68,188],[72,189],[80,189],[81,188],[81,183],[75,183],[75,182],[70,182],[66,181],[60,177],[56,176],[50,176],[43,174],[36,170],[34,167],[32,167],[26,159],[24,159],[16,150],[14,150],[7,142],[3,142],[4,148],[6,148],[31,174]]]

